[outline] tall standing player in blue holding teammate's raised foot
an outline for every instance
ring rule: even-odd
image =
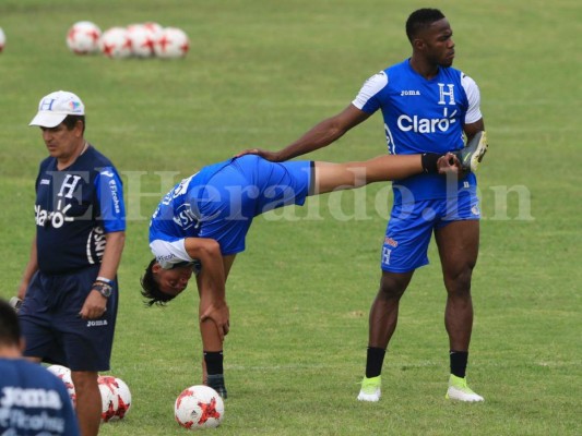
[[[437,9],[419,9],[406,21],[412,57],[371,76],[342,112],[325,119],[278,152],[248,149],[273,161],[324,147],[381,109],[390,154],[455,152],[463,134],[477,147],[466,154],[478,165],[487,149],[476,83],[452,68],[453,32]],[[466,384],[473,328],[471,278],[477,261],[480,211],[477,182],[418,174],[394,181],[394,203],[381,253],[382,277],[369,315],[366,375],[358,400],[378,401],[381,370],[396,328],[400,299],[416,268],[427,265],[432,233],[447,288],[444,324],[449,335],[447,398],[483,401]]]

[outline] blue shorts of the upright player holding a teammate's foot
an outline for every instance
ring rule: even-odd
[[[382,245],[382,270],[408,272],[427,265],[428,244],[436,229],[453,221],[479,218],[479,201],[472,192],[458,198],[395,204]]]

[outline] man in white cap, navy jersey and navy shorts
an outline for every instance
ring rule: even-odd
[[[121,180],[84,138],[85,106],[69,92],[43,97],[38,125],[49,157],[36,179],[36,237],[19,287],[24,355],[71,370],[83,436],[97,435],[97,374],[109,370],[117,268],[124,244]]]

